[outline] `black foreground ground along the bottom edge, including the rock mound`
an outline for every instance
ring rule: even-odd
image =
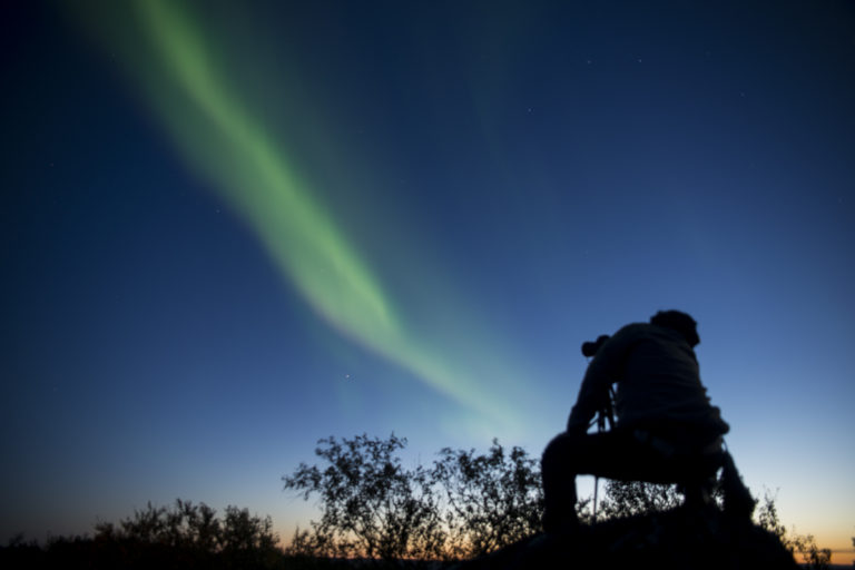
[[[759,570],[798,569],[780,540],[721,511],[670,511],[615,519],[553,534],[538,534],[491,554],[452,564],[426,561],[332,560],[286,557],[278,550],[202,553],[135,541],[92,539],[55,542],[49,548],[19,544],[0,549],[2,568],[159,569],[352,569],[419,568],[455,570],[630,569]]]

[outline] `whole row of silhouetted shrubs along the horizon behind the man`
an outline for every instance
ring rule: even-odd
[[[330,438],[315,450],[318,465],[302,463],[283,476],[285,490],[315,498],[321,519],[281,548],[269,517],[204,503],[137,511],[118,523],[95,525],[94,537],[55,538],[47,544],[13,539],[0,548],[2,568],[301,569],[361,566],[366,561],[421,566],[478,557],[541,532],[540,462],[521,448],[493,441],[487,453],[443,449],[430,468],[403,464],[403,438]],[[671,485],[609,481],[599,521],[666,511],[681,497]],[[590,499],[578,505],[591,522]],[[757,522],[812,568],[827,568],[831,552],[813,537],[789,535],[768,495]],[[376,566],[376,564],[375,564]],[[435,566],[435,564],[434,564]]]

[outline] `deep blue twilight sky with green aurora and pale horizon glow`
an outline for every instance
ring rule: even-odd
[[[679,308],[746,483],[851,559],[852,2],[0,22],[0,540],[176,498],[287,540],[328,435],[539,455],[579,345]]]

